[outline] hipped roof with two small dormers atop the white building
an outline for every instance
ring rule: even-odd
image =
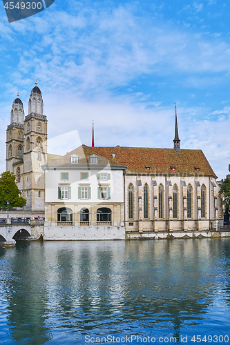
[[[71,164],[70,157],[73,155],[77,155],[79,157],[77,164]],[[90,164],[90,156],[97,155],[97,164]],[[126,168],[126,166],[122,166],[121,164],[118,164],[113,159],[109,159],[107,157],[103,157],[103,155],[100,155],[99,152],[95,152],[92,148],[82,145],[78,148],[75,148],[75,150],[66,153],[64,156],[59,156],[57,159],[52,159],[48,161],[48,164],[46,166],[43,166],[43,168],[77,168],[82,166],[87,166],[88,168],[97,168],[97,167],[104,167],[110,165],[111,167],[117,167],[117,168]]]

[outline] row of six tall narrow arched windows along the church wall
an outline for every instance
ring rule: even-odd
[[[149,190],[148,184],[144,185],[143,190],[144,195],[144,219],[148,219],[148,212],[149,212]],[[192,195],[192,188],[189,185],[187,187],[187,217],[191,218],[191,195]],[[205,186],[202,185],[201,187],[201,217],[205,217]],[[158,218],[163,218],[163,186],[160,185],[158,187]],[[133,184],[129,184],[128,186],[128,218],[133,219],[133,210],[134,210],[134,186]],[[175,184],[173,186],[173,218],[178,218],[178,186]]]

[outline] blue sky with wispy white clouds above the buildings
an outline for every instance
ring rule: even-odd
[[[48,152],[79,144],[201,149],[230,164],[230,1],[55,0],[8,23],[0,1],[0,172],[12,102],[37,80]]]

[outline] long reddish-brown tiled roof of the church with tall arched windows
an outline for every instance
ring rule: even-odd
[[[160,175],[206,175],[213,172],[202,150],[180,150],[173,148],[94,147],[93,150],[117,164],[127,166],[126,172]],[[112,155],[115,155],[113,158]],[[146,170],[149,167],[150,170]],[[175,171],[172,170],[175,168]],[[199,168],[200,172],[195,169]]]

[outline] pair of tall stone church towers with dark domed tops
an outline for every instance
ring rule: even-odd
[[[13,172],[25,209],[44,212],[44,170],[47,162],[47,119],[43,113],[41,90],[30,92],[28,115],[25,117],[19,95],[12,103],[10,125],[6,130],[6,170]]]

